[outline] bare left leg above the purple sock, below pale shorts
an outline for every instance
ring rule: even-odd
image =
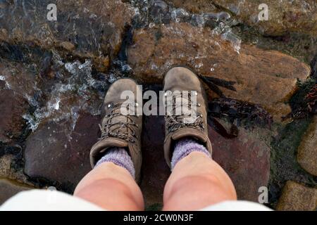
[[[87,174],[75,189],[75,196],[105,210],[144,210],[144,200],[128,170],[105,162]]]

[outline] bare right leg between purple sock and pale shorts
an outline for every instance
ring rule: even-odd
[[[163,195],[163,210],[201,210],[237,200],[228,174],[204,153],[193,152],[175,165]]]

